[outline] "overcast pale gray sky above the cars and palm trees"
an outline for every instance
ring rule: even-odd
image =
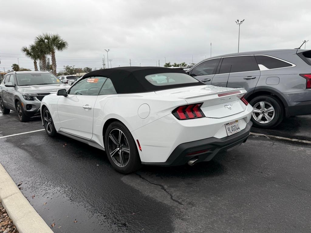
[[[49,0],[1,1],[0,68],[12,63],[33,69],[20,49],[36,35],[58,33],[69,43],[57,52],[65,65],[102,67],[110,49],[111,65],[160,66],[199,62],[212,56],[264,49],[296,48],[310,39],[311,1],[288,0]],[[304,46],[303,46],[304,48]],[[110,62],[109,62],[110,66]]]

